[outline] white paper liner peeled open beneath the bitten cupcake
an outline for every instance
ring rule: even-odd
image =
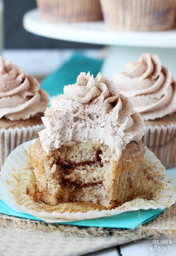
[[[31,214],[47,222],[57,222],[58,220],[85,220],[112,216],[139,209],[164,209],[165,207],[170,207],[176,201],[175,189],[171,184],[165,168],[155,155],[147,149],[141,166],[141,175],[143,175],[143,177],[141,177],[141,183],[138,187],[139,194],[146,191],[148,195],[145,195],[145,198],[149,196],[150,200],[138,196],[115,209],[102,211],[91,210],[85,213],[60,213],[59,207],[53,212],[43,211],[42,207],[40,207],[40,203],[36,203],[33,198],[29,197],[25,186],[26,182],[31,186],[31,189],[32,186],[35,186],[35,184],[32,185],[34,181],[28,169],[28,147],[32,145],[34,141],[35,140],[25,142],[14,149],[5,160],[1,170],[0,187],[2,196],[0,196],[0,199],[16,211]],[[15,196],[15,194],[18,194],[18,197]],[[44,203],[42,202],[41,204]]]

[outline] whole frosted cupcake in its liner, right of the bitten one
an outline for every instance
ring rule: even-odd
[[[112,78],[144,117],[144,145],[166,168],[176,166],[176,82],[170,70],[158,55],[148,53]]]

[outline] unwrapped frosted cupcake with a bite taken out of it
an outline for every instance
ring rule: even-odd
[[[80,204],[112,209],[136,196],[144,121],[112,81],[80,73],[42,120],[46,128],[29,149],[36,201],[70,212]]]

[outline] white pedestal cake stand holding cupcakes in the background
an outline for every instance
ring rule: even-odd
[[[112,74],[125,70],[126,62],[136,61],[142,53],[156,53],[164,66],[176,77],[176,29],[155,32],[108,31],[103,21],[47,22],[38,9],[23,17],[24,28],[34,34],[53,39],[108,46],[101,72],[111,79]]]

